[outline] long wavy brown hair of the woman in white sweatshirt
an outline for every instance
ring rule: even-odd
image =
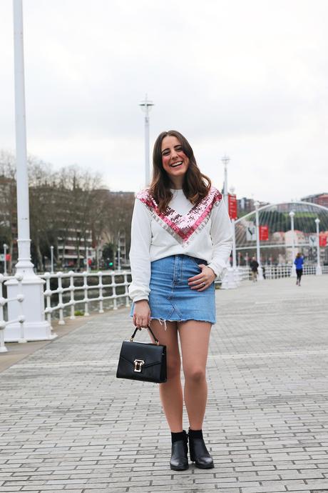
[[[187,199],[190,200],[192,204],[198,204],[200,200],[207,196],[211,187],[210,178],[200,172],[193,149],[183,134],[180,134],[180,132],[176,130],[163,131],[155,140],[153,150],[153,178],[149,187],[150,194],[158,204],[160,212],[165,211],[168,207],[168,203],[173,197],[173,193],[170,191],[172,183],[165,169],[163,169],[162,161],[162,141],[167,136],[173,136],[178,139],[183,148],[183,152],[189,159],[188,170],[186,171],[183,180],[183,193]]]

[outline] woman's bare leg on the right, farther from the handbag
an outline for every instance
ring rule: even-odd
[[[185,407],[191,429],[202,429],[207,402],[206,362],[210,342],[209,322],[179,322],[183,373],[185,374]]]

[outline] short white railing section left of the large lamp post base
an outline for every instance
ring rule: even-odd
[[[6,282],[7,281],[15,281],[18,283],[18,290],[16,297],[8,298],[6,297]],[[6,352],[7,348],[4,344],[4,329],[9,324],[20,324],[20,334],[21,337],[18,342],[26,342],[24,337],[24,322],[25,317],[23,314],[22,302],[24,302],[24,294],[22,294],[21,282],[23,280],[23,276],[21,274],[16,274],[16,276],[4,276],[0,274],[0,352]],[[8,304],[18,302],[19,304],[19,316],[16,319],[9,320],[8,317]]]

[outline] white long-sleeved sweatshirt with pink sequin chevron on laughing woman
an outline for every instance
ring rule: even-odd
[[[183,190],[171,190],[173,198],[164,213],[145,189],[137,194],[131,226],[130,264],[133,302],[150,292],[150,262],[185,254],[204,259],[218,277],[227,266],[232,249],[232,226],[220,192],[212,187],[194,206]]]

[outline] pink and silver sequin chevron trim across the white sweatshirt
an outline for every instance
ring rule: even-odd
[[[165,212],[159,212],[158,204],[156,204],[153,196],[149,194],[147,189],[140,191],[137,194],[137,199],[147,206],[155,221],[158,221],[158,223],[163,226],[166,231],[172,234],[180,244],[186,246],[189,243],[191,236],[203,229],[208,219],[210,219],[212,207],[220,204],[222,195],[220,194],[220,191],[212,186],[207,196],[205,196],[205,199],[193,206],[193,208],[183,216],[170,207],[168,207]]]

